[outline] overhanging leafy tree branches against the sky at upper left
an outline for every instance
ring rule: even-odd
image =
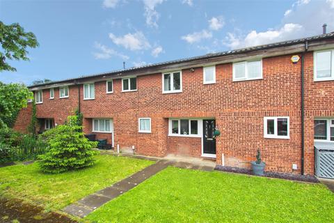
[[[28,54],[26,47],[38,47],[35,34],[25,32],[23,27],[18,23],[6,25],[1,21],[0,43],[2,47],[0,51],[0,72],[3,70],[16,71],[15,68],[7,63],[6,59],[29,61],[29,58],[26,56]]]

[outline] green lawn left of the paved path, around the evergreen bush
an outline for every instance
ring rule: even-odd
[[[44,174],[37,163],[2,167],[0,196],[58,210],[153,163],[112,155],[97,155],[96,160],[93,167],[63,174]]]

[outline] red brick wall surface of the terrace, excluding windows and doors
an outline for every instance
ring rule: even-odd
[[[182,93],[162,93],[161,73],[137,78],[138,91],[121,92],[121,80],[113,82],[106,94],[106,82],[95,83],[95,100],[83,100],[85,118],[113,118],[115,146],[131,148],[143,155],[164,156],[178,151],[200,156],[200,139],[168,137],[168,118],[215,118],[221,136],[216,138],[216,162],[249,167],[257,148],[267,170],[301,171],[301,61],[292,55],[265,58],[263,79],[232,82],[232,63],[216,66],[216,84],[203,84],[202,68],[182,70]],[[313,54],[305,56],[305,173],[313,174],[313,120],[315,116],[334,116],[331,95],[334,82],[313,82]],[[70,98],[49,100],[49,90],[38,105],[38,117],[55,118],[61,123],[77,107],[77,86],[70,87]],[[264,116],[289,116],[289,139],[265,139]],[[152,133],[138,133],[138,118],[152,119]],[[86,132],[91,123],[85,119]],[[182,146],[180,146],[182,145]],[[186,148],[186,149],[183,149]]]

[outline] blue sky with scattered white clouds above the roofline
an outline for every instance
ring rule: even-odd
[[[0,73],[29,85],[331,32],[334,0],[0,0],[0,20],[38,39]]]

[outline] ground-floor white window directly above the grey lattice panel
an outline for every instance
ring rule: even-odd
[[[315,140],[334,141],[334,119],[315,120]]]

